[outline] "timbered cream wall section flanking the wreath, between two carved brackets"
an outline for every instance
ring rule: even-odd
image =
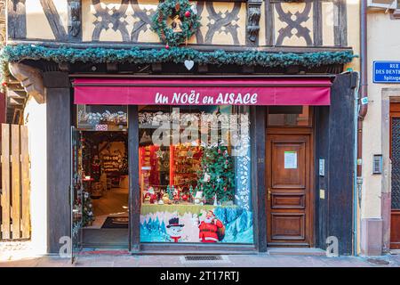
[[[87,2],[84,1],[86,5]],[[85,20],[85,25],[92,25],[92,36],[91,38],[86,36],[85,40],[108,41],[109,38],[105,40],[102,33],[113,30],[118,34],[115,37],[116,41],[140,43],[143,42],[143,35],[146,35],[150,42],[159,42],[151,31],[157,1],[91,0],[90,2],[92,4],[90,17],[92,19],[94,17],[94,20],[92,22]],[[225,9],[223,9],[224,4],[227,6]],[[230,5],[232,8],[228,7]],[[202,28],[198,29],[196,36],[189,43],[213,45],[221,40],[221,37],[226,37],[224,42],[231,42],[231,45],[244,45],[245,41],[240,37],[241,29],[243,34],[245,33],[245,19],[242,19],[245,18],[246,11],[244,2],[232,4],[198,1],[196,10],[201,17]],[[244,20],[244,25],[239,25],[240,20]],[[142,35],[141,38],[140,35]],[[218,37],[215,37],[216,35]]]

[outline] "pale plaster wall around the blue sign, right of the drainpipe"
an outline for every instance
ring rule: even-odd
[[[388,239],[388,229],[383,226],[382,220],[390,207],[385,199],[389,191],[389,161],[388,129],[382,129],[388,118],[382,112],[385,107],[382,102],[388,103],[385,89],[398,88],[399,85],[372,83],[373,61],[399,61],[398,47],[400,38],[393,37],[394,32],[400,29],[400,20],[392,19],[390,12],[384,10],[369,10],[368,12],[368,113],[364,119],[363,134],[363,177],[364,185],[361,202],[361,253],[364,255],[380,254],[382,241]],[[384,44],[382,44],[384,43]],[[386,99],[384,98],[386,97]],[[381,135],[379,135],[381,134]],[[383,154],[386,165],[383,175],[372,175],[372,158],[374,154]],[[383,207],[382,207],[383,205]],[[381,233],[380,233],[381,232]],[[383,236],[383,237],[382,237]]]

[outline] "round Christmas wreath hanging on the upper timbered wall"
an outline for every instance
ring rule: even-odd
[[[172,19],[172,25],[167,22]],[[188,0],[165,0],[159,4],[153,16],[153,30],[168,48],[170,45],[180,45],[192,37],[200,26],[200,18],[196,6],[191,6]]]

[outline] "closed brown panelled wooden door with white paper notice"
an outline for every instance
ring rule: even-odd
[[[312,246],[310,134],[268,134],[268,246]]]

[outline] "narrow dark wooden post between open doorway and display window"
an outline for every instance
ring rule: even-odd
[[[140,250],[139,122],[138,106],[128,106],[129,250]]]

